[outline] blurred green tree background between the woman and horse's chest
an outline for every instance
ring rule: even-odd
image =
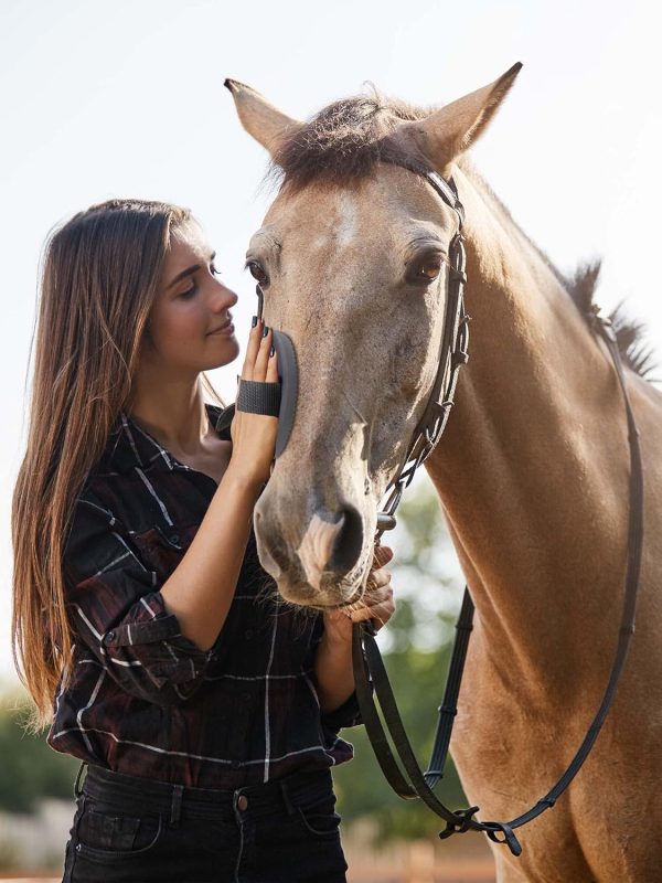
[[[378,640],[407,734],[425,768],[465,584],[427,476],[417,476],[397,518],[396,530],[382,538],[395,552],[396,613]],[[354,759],[333,770],[339,812],[345,823],[370,816],[381,841],[418,839],[445,828],[420,800],[403,800],[394,794],[363,727],[345,730],[343,736],[355,748]],[[468,805],[451,759],[436,792],[452,809]]]

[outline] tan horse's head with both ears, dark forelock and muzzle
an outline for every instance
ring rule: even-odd
[[[247,262],[267,325],[291,338],[298,362],[291,436],[255,509],[260,561],[288,600],[361,594],[377,506],[437,374],[458,219],[397,163],[452,174],[520,67],[431,114],[360,97],[309,124],[226,82],[281,175]]]

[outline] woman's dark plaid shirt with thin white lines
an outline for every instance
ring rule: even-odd
[[[222,408],[206,405],[212,422]],[[229,439],[229,429],[221,436]],[[216,490],[126,413],[76,501],[64,552],[72,666],[49,744],[119,773],[235,789],[349,760],[355,696],[320,712],[322,615],[278,603],[253,530],[227,619],[203,651],[160,587]]]

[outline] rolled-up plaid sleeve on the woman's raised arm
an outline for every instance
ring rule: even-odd
[[[64,551],[66,603],[74,634],[127,692],[157,704],[189,699],[211,650],[181,634],[159,578],[106,507],[76,502]]]

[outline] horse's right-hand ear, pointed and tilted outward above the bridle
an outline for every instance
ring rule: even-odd
[[[424,119],[405,123],[399,136],[413,140],[435,168],[444,171],[485,130],[521,67],[517,62],[489,86],[440,107]]]

